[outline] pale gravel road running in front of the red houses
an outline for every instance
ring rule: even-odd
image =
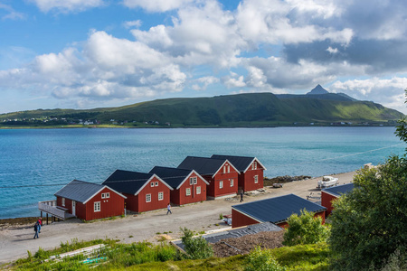
[[[352,182],[355,172],[340,173],[339,184]],[[285,183],[282,188],[266,187],[265,192],[254,193],[244,197],[244,202],[259,201],[294,193],[307,198],[310,192],[317,196],[317,181],[322,177],[304,181]],[[44,221],[40,238],[33,239],[33,225],[5,226],[0,229],[0,264],[27,257],[27,250],[35,253],[38,248],[51,249],[59,247],[61,242],[77,238],[90,240],[95,238],[118,239],[132,243],[147,240],[156,242],[159,234],[167,232],[171,238],[181,236],[180,227],[197,232],[230,228],[219,220],[220,214],[230,214],[232,205],[240,204],[240,198],[204,201],[186,206],[173,207],[173,214],[166,215],[166,210],[154,210],[138,215],[128,215],[116,220],[98,220],[83,223],[80,220],[66,220],[46,225]]]

